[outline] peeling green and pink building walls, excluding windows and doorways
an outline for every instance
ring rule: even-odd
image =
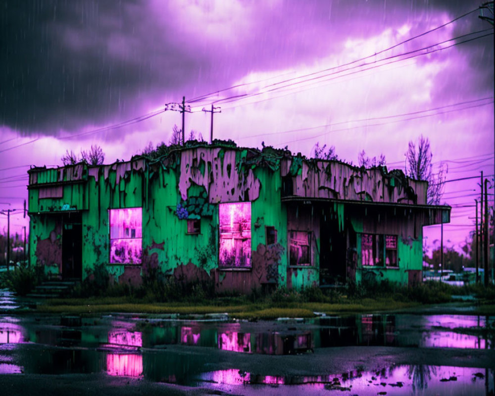
[[[410,213],[395,215],[392,231],[400,236],[397,247],[399,269],[369,269],[359,265],[360,233],[391,233],[390,226],[387,226],[391,223],[385,217],[379,218],[384,216],[381,209],[373,209],[371,216],[365,215],[362,207],[355,209],[343,201],[315,204],[284,200],[288,196],[284,185],[288,178],[292,178],[292,196],[321,198],[321,192],[315,186],[305,185],[307,180],[323,178],[315,176],[318,169],[325,172],[323,184],[327,195],[337,186],[347,191],[364,183],[354,181],[351,186],[347,179],[347,182],[339,182],[335,161],[330,161],[331,169],[330,165],[324,169],[321,163],[325,161],[318,162],[317,166],[310,163],[309,167],[306,162],[306,159],[292,157],[284,150],[198,145],[170,150],[167,155],[154,160],[136,157],[129,162],[111,165],[34,168],[29,172],[31,263],[44,266],[47,274],[61,273],[62,223],[67,221],[67,214],[77,213],[82,224],[83,279],[102,265],[113,282],[132,285],[141,284],[143,277],[154,276],[159,270],[164,276],[179,282],[210,283],[220,293],[250,293],[263,287],[301,289],[319,283],[320,219],[314,209],[318,205],[327,205],[335,213],[338,232],[347,238],[348,246],[340,248],[350,253],[347,253],[347,263],[340,265],[355,266],[348,279],[355,277],[359,282],[365,272],[371,271],[377,277],[407,283],[409,271],[421,270],[423,224],[420,223],[425,222],[424,216],[416,216],[414,220],[415,215]],[[355,179],[362,174],[362,169],[337,164],[353,169],[354,176],[349,176],[352,172],[348,170],[339,171],[345,178]],[[373,178],[378,178],[380,172],[383,173],[374,171]],[[305,174],[308,179],[303,179]],[[396,177],[387,177],[392,180],[389,184],[397,184],[394,182]],[[330,179],[332,183],[328,181]],[[403,187],[403,183],[400,186]],[[318,196],[311,196],[314,191]],[[382,194],[370,187],[367,191],[367,195],[360,195],[358,191],[353,194],[364,197],[363,200]],[[394,190],[389,196],[408,201],[414,198],[410,189],[406,191],[405,188],[402,192]],[[388,198],[380,196],[377,199]],[[251,202],[251,267],[219,269],[219,203],[240,201]],[[143,213],[142,263],[111,264],[108,211],[133,207],[142,207]],[[185,211],[187,215],[184,215]],[[387,216],[393,217],[391,214]],[[200,219],[198,234],[188,234],[187,219]],[[276,230],[276,243],[267,245],[267,227]],[[289,265],[290,230],[311,232],[310,265]],[[352,255],[351,246],[357,254]]]

